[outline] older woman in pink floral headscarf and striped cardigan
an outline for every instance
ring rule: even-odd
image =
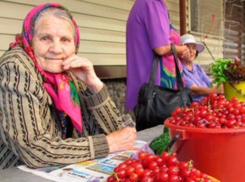
[[[5,167],[17,159],[31,168],[66,165],[133,147],[135,128],[122,129],[92,63],[76,55],[79,41],[70,11],[43,4],[0,58],[1,155],[15,154]]]

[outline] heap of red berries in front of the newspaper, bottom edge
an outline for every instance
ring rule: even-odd
[[[161,156],[140,151],[139,159],[127,159],[119,164],[107,182],[212,182],[197,170],[191,161],[179,162],[176,153]]]

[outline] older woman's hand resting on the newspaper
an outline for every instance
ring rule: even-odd
[[[126,127],[108,134],[106,138],[109,144],[109,152],[132,149],[136,136],[136,129],[132,127]]]

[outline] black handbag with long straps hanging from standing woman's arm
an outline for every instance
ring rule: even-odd
[[[150,82],[144,83],[141,86],[138,104],[134,108],[136,126],[148,125],[153,127],[163,124],[164,120],[171,116],[176,107],[189,106],[192,102],[190,90],[184,87],[181,79],[178,58],[173,44],[171,44],[171,49],[174,54],[177,89],[154,85],[158,65],[158,57],[156,56],[151,71]]]

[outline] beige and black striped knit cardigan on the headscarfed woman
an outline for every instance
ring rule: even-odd
[[[20,47],[0,58],[0,165],[31,168],[66,165],[109,153],[106,134],[121,128],[121,115],[106,86],[94,95],[72,77],[79,92],[83,132],[61,139],[61,125],[40,73]],[[20,159],[20,160],[19,160]]]

